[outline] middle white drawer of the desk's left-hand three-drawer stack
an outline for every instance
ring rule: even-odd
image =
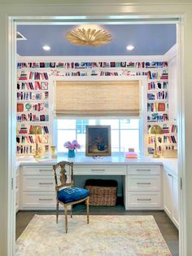
[[[23,191],[55,191],[54,177],[24,176]]]

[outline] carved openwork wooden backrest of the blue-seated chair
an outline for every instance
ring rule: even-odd
[[[59,163],[53,166],[53,170],[55,174],[56,192],[58,192],[60,188],[74,186],[73,162],[59,161]]]

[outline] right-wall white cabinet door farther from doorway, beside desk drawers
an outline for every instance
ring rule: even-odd
[[[172,218],[172,174],[164,170],[164,210]]]

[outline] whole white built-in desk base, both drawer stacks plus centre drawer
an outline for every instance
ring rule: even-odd
[[[74,174],[123,176],[126,210],[161,210],[161,166],[158,165],[74,165]],[[20,209],[55,209],[55,178],[52,164],[23,165],[20,172]],[[105,177],[106,178],[106,177]]]

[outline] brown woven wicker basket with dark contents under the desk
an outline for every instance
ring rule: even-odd
[[[90,205],[116,205],[116,180],[88,179],[85,188],[90,193]]]

